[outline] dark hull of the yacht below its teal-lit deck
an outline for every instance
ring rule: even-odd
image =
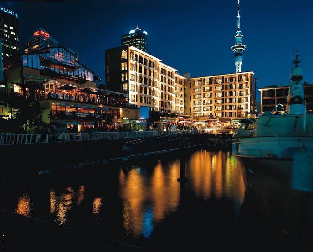
[[[312,250],[313,193],[292,188],[293,159],[234,155],[243,174],[246,193],[274,228],[299,250]]]

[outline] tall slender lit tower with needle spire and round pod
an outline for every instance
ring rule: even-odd
[[[236,42],[235,45],[231,47],[232,51],[235,53],[235,66],[236,66],[236,73],[241,72],[241,64],[243,62],[243,50],[246,49],[246,45],[243,45],[241,38],[243,35],[241,35],[240,31],[240,0],[238,0],[238,16],[237,16],[237,34],[235,36]]]

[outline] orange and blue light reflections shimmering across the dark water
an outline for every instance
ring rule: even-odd
[[[137,165],[119,170],[112,167],[110,175],[106,171],[103,177],[83,178],[81,184],[70,178],[65,186],[50,186],[47,193],[23,193],[17,199],[16,213],[29,216],[38,208],[49,211],[46,219],[59,225],[79,227],[84,220],[85,228],[91,232],[101,225],[99,234],[115,232],[135,239],[149,239],[159,223],[179,211],[182,192],[204,202],[226,198],[232,202],[231,211],[239,214],[245,188],[230,153],[198,150],[186,154],[185,170],[190,181],[185,188],[177,182],[180,161],[176,156],[134,162]],[[36,197],[37,205],[31,204],[32,197]]]

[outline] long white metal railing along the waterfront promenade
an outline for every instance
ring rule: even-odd
[[[57,134],[16,134],[0,135],[0,145],[39,144],[55,142],[72,142],[87,140],[105,140],[123,138],[143,138],[163,134],[197,134],[197,130],[163,131],[129,131],[129,132],[97,132],[97,133],[57,133]]]

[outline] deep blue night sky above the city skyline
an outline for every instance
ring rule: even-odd
[[[204,76],[235,71],[237,1],[2,2],[18,13],[20,42],[38,26],[78,52],[104,80],[104,50],[119,46],[136,24],[148,32],[148,52],[180,73]],[[254,71],[258,87],[288,84],[292,48],[299,50],[304,80],[313,83],[313,1],[241,1],[247,49],[242,71]]]

